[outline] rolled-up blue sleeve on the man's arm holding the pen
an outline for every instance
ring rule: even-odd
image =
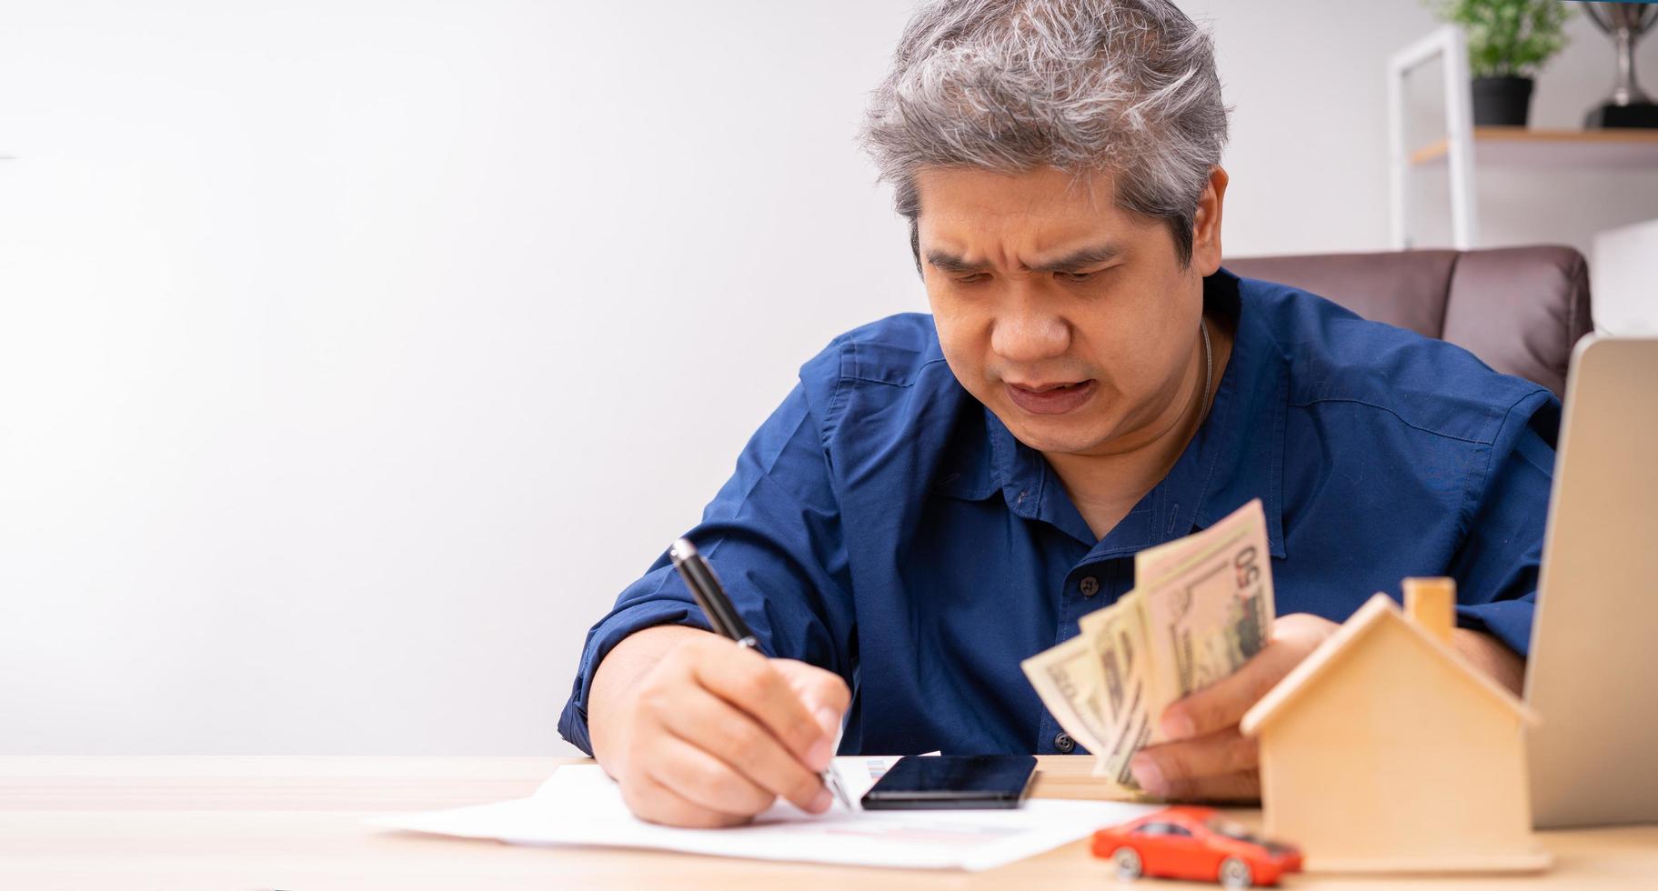
[[[819,363],[827,364],[827,363]],[[754,432],[736,472],[686,533],[769,656],[801,659],[852,682],[852,603],[841,513],[824,449],[834,381],[802,381]],[[831,366],[832,368],[832,366]],[[592,754],[594,671],[628,634],[658,624],[708,629],[667,550],[587,633],[559,734]]]

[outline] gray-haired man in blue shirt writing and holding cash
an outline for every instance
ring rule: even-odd
[[[686,535],[594,626],[560,732],[637,815],[822,812],[841,752],[1076,752],[1020,661],[1132,555],[1262,498],[1268,644],[1159,715],[1134,780],[1258,795],[1240,715],[1376,590],[1457,581],[1457,649],[1519,687],[1559,402],[1466,351],[1220,267],[1227,109],[1164,0],[938,0],[865,144],[932,315],[836,338]]]

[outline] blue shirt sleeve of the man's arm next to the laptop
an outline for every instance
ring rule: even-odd
[[[1451,565],[1457,624],[1484,631],[1520,656],[1530,651],[1559,426],[1560,402],[1547,391],[1509,411]]]

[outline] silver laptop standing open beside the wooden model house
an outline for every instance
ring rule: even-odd
[[[1658,821],[1658,340],[1578,341],[1525,701],[1537,828]]]

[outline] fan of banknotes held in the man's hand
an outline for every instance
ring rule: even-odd
[[[1048,710],[1094,754],[1094,775],[1137,793],[1129,759],[1162,742],[1171,702],[1239,669],[1273,621],[1260,498],[1134,555],[1134,590],[1083,616],[1083,633],[1020,662]]]

